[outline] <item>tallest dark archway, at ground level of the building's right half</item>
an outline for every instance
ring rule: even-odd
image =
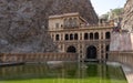
[[[96,59],[96,48],[94,45],[86,49],[86,59]]]

